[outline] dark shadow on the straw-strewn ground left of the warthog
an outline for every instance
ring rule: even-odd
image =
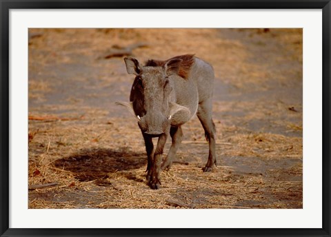
[[[138,169],[146,165],[145,154],[121,150],[80,150],[55,161],[54,166],[72,172],[79,181],[94,181],[105,178],[108,173]]]

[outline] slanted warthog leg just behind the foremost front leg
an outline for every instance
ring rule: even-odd
[[[162,163],[161,169],[168,170],[172,165],[172,159],[176,155],[179,145],[183,139],[183,130],[181,130],[181,126],[179,127],[171,127],[170,128],[170,136],[172,138],[172,144],[170,150],[168,152],[168,156]]]

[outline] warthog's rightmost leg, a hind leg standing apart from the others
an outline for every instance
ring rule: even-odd
[[[216,129],[214,122],[212,121],[212,99],[208,99],[199,103],[197,116],[205,130],[205,138],[209,143],[209,156],[207,164],[203,167],[203,172],[210,172],[212,168],[217,165],[216,160],[216,148],[215,148],[215,136]]]

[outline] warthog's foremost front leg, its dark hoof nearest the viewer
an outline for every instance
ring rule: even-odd
[[[167,141],[168,134],[163,133],[159,136],[159,140],[157,141],[157,147],[154,152],[154,160],[152,163],[152,172],[149,185],[152,189],[159,189],[161,187],[161,162],[162,162],[162,154],[165,142]]]

